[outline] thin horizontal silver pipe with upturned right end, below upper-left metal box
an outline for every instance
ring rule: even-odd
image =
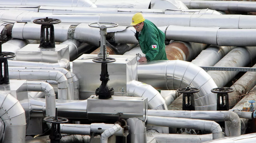
[[[70,69],[70,64],[67,59],[61,59],[57,63],[8,60],[8,66],[27,66],[27,67],[39,67],[39,68],[40,67],[42,67],[42,68],[65,68],[67,70]]]

